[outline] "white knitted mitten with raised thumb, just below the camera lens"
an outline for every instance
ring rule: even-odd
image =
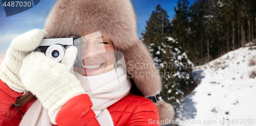
[[[32,52],[23,60],[20,79],[26,89],[35,94],[42,106],[49,110],[49,115],[72,97],[85,93],[80,81],[70,72],[76,55],[77,48],[71,46],[61,63],[39,52]]]

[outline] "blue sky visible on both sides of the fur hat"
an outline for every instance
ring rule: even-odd
[[[190,4],[193,2],[189,1]],[[140,37],[145,29],[146,20],[150,18],[158,4],[167,11],[171,19],[175,15],[174,7],[177,6],[178,0],[132,0],[132,2],[137,14],[137,35]],[[9,17],[6,17],[4,7],[0,7],[0,59],[3,58],[13,38],[32,29],[44,28],[46,15],[54,3],[53,0],[41,0],[35,7]]]

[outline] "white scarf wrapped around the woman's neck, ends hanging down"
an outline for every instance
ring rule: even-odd
[[[129,94],[131,89],[123,56],[115,63],[111,71],[91,77],[75,72],[75,76],[81,82],[81,87],[86,94],[90,96],[93,103],[92,110],[100,125],[113,125],[111,115],[106,108]],[[48,110],[43,108],[37,99],[25,113],[19,125],[51,126],[50,118],[55,120],[57,112],[49,117]]]

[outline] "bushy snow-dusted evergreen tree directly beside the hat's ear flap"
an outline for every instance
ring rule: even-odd
[[[194,64],[178,46],[178,42],[172,39],[169,43],[170,45],[164,42],[147,45],[162,79],[162,90],[157,97],[177,105],[183,102],[184,95],[188,95],[189,86],[196,83],[191,75]]]

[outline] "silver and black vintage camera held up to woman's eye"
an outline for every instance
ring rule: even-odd
[[[48,58],[60,62],[65,55],[66,49],[73,45],[77,47],[77,57],[74,67],[82,67],[82,43],[80,37],[45,38],[35,51],[45,53]]]

